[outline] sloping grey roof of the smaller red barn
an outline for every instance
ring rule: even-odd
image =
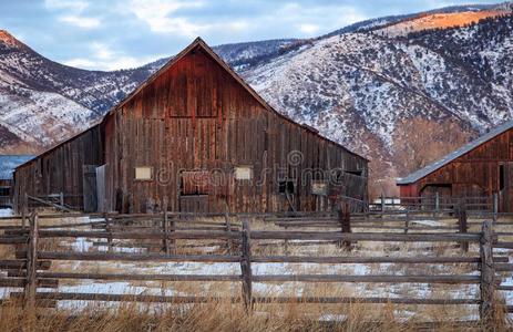
[[[468,154],[469,152],[473,151],[478,146],[480,146],[483,143],[489,142],[490,139],[494,138],[495,136],[501,135],[502,133],[513,128],[513,121],[505,122],[504,124],[493,128],[489,133],[482,135],[481,137],[470,142],[469,144],[460,147],[456,151],[453,151],[449,155],[444,156],[443,158],[434,162],[433,164],[430,164],[425,166],[424,168],[421,168],[419,170],[413,172],[412,174],[408,175],[407,177],[398,178],[397,184],[399,186],[401,185],[410,185],[412,183],[415,183],[420,180],[421,178],[430,175],[437,169],[440,169],[441,167],[448,165],[452,160]]]

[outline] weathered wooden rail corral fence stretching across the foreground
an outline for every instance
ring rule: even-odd
[[[459,211],[460,212],[460,211]],[[493,322],[499,308],[513,311],[507,305],[494,302],[496,290],[510,291],[513,287],[501,286],[496,272],[513,271],[513,264],[507,257],[494,257],[493,248],[512,249],[513,242],[501,241],[493,227],[510,225],[511,221],[472,221],[479,231],[470,232],[462,229],[461,220],[456,218],[456,227],[422,226],[414,224],[422,217],[422,211],[404,214],[398,211],[381,211],[368,214],[351,214],[343,207],[337,215],[330,214],[287,214],[287,215],[244,215],[222,214],[223,222],[214,222],[188,214],[155,214],[155,215],[90,215],[88,222],[55,224],[40,226],[43,218],[57,216],[39,216],[32,212],[25,216],[28,225],[0,226],[3,235],[0,245],[16,246],[16,259],[0,260],[0,270],[7,276],[0,278],[0,287],[22,288],[23,291],[11,291],[8,302],[22,305],[55,307],[57,301],[136,301],[160,303],[205,303],[215,300],[240,302],[250,311],[255,304],[263,303],[394,303],[402,305],[478,305],[480,318],[484,323]],[[452,216],[451,216],[452,214]],[[440,211],[438,218],[454,218],[454,211]],[[62,216],[62,215],[61,215]],[[65,216],[65,215],[64,215]],[[208,215],[205,215],[207,217]],[[212,215],[211,215],[212,216]],[[259,217],[265,222],[279,227],[277,230],[252,229],[252,220]],[[20,220],[21,221],[21,220]],[[408,224],[406,222],[408,221]],[[470,221],[464,221],[472,225]],[[397,226],[390,226],[391,224]],[[311,228],[321,230],[311,230]],[[376,229],[365,232],[355,229]],[[299,230],[297,230],[299,229]],[[424,232],[421,232],[424,231]],[[428,232],[425,232],[428,231]],[[53,251],[41,249],[41,241],[48,239],[90,239],[105,251],[78,252]],[[146,246],[136,241],[156,243],[156,252],[115,252],[117,246]],[[179,253],[177,241],[187,240],[196,246],[209,246],[205,241],[220,241],[224,253]],[[455,243],[463,250],[470,246],[479,248],[478,253],[459,256],[420,256],[411,257],[399,252],[394,257],[356,257],[356,256],[290,256],[265,255],[258,250],[263,245],[281,242],[284,247],[296,245],[312,245],[334,242],[341,248],[351,250],[351,246],[360,242],[429,242]],[[146,247],[147,248],[147,247]],[[265,252],[265,251],[263,251]],[[75,272],[51,271],[55,261],[125,261],[125,262],[203,262],[203,263],[237,263],[239,274],[167,274],[167,273],[110,273],[110,272]],[[390,263],[390,264],[465,264],[472,271],[464,274],[255,274],[252,264],[255,263],[317,263],[317,264],[350,264],[350,263]],[[393,268],[391,269],[393,270]],[[429,269],[427,269],[429,271]],[[160,281],[160,282],[240,282],[239,297],[216,299],[199,295],[152,295],[152,294],[112,294],[112,293],[78,293],[63,292],[59,284],[63,280],[123,280],[123,281]],[[476,284],[479,292],[473,298],[407,298],[407,297],[259,297],[254,294],[254,283],[425,283],[434,284]],[[38,291],[38,289],[54,289],[54,291]]]

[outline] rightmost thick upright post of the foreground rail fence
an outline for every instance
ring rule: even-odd
[[[482,226],[480,240],[481,256],[481,304],[480,319],[486,330],[493,330],[495,308],[494,308],[494,278],[495,269],[493,267],[493,229],[492,222],[484,221]]]

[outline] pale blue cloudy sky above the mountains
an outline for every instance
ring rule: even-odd
[[[6,29],[47,58],[96,70],[209,44],[316,37],[369,18],[499,0],[0,0]]]

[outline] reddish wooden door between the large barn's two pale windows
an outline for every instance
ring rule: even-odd
[[[184,170],[179,181],[179,211],[208,212],[208,170]]]

